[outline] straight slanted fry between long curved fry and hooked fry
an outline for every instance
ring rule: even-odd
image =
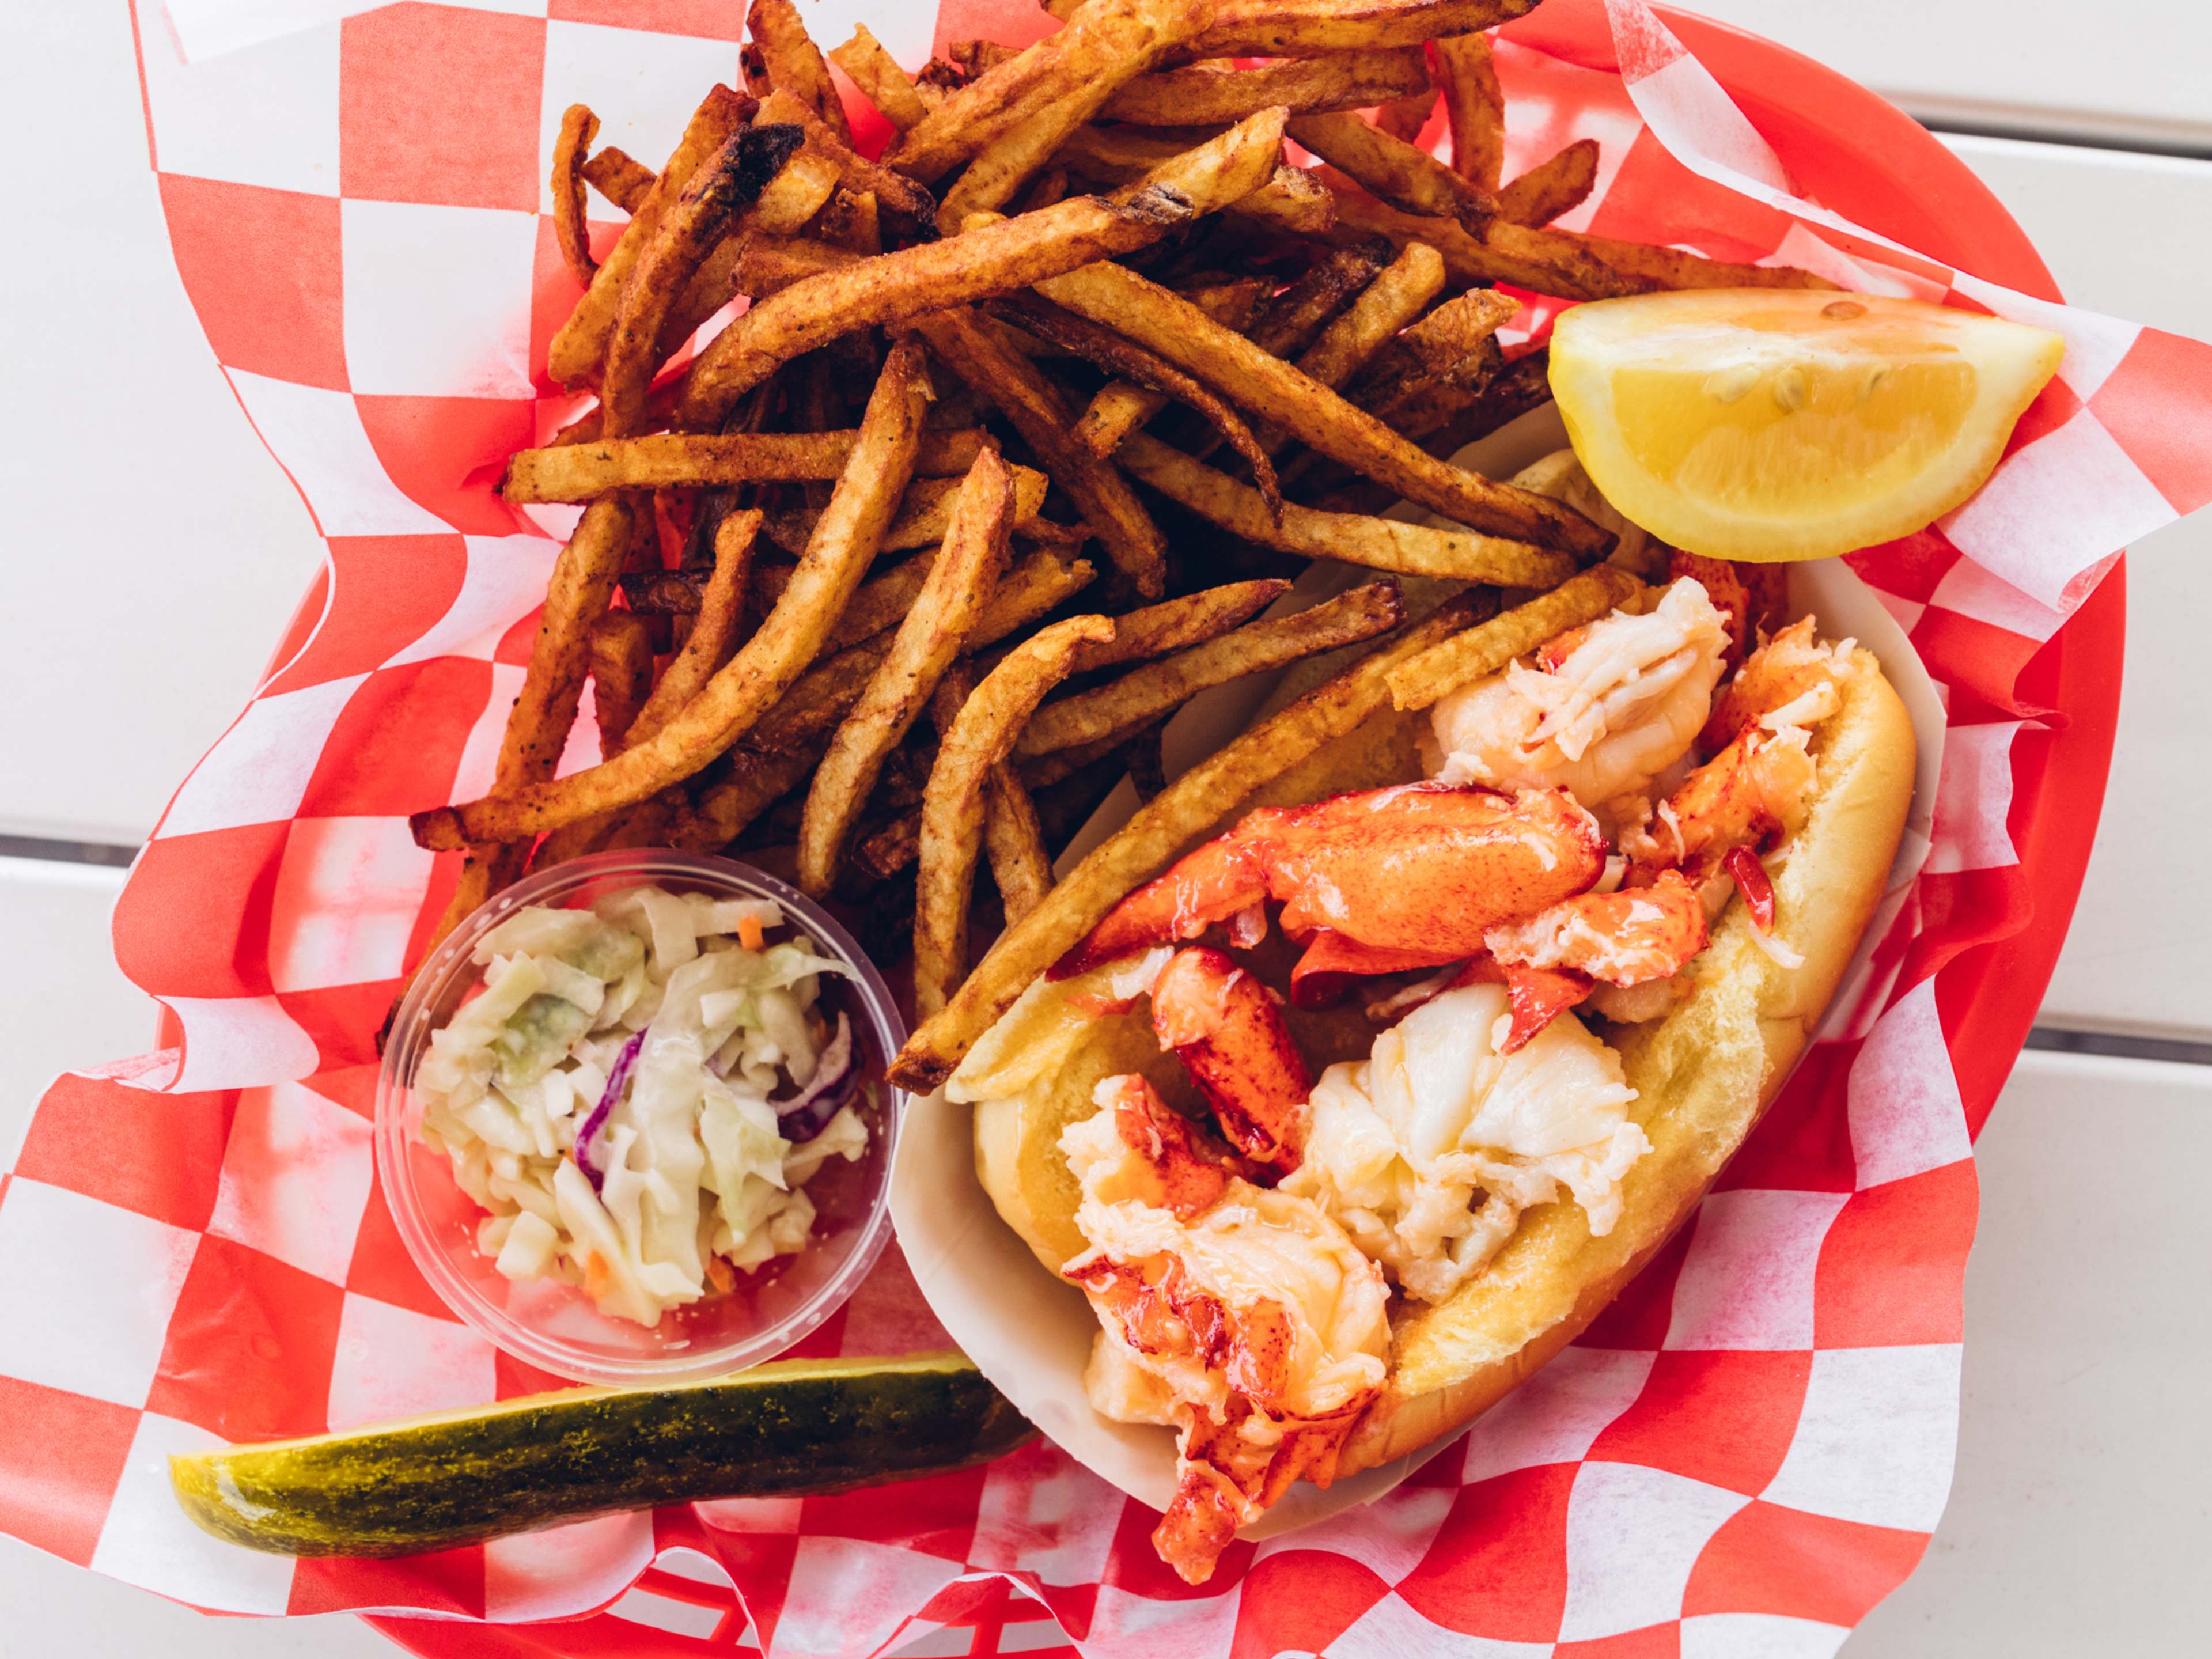
[[[821,898],[836,880],[852,834],[885,757],[905,741],[938,679],[982,615],[1013,533],[1013,480],[995,451],[969,469],[945,546],[929,566],[914,608],[898,624],[883,664],[860,692],[807,790],[799,827],[799,885]]]

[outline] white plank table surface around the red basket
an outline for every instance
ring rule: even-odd
[[[1712,0],[1953,126],[2212,153],[2212,22],[2179,0],[2079,9],[1951,0]],[[18,611],[0,653],[0,1146],[62,1066],[144,1046],[106,914],[122,872],[64,843],[128,847],[230,721],[321,544],[248,429],[175,279],[119,4],[18,7],[0,91],[66,155],[0,270],[0,445]],[[1913,62],[1898,42],[1913,40]],[[2035,237],[2068,296],[2212,336],[2212,164],[2079,144],[1953,137]],[[153,436],[119,447],[122,407]],[[2130,557],[2128,681],[2104,830],[2044,1024],[2201,1044],[2212,1057],[2212,520]],[[35,717],[35,719],[27,719]],[[38,856],[4,856],[4,854]],[[35,945],[35,951],[22,949]],[[1951,1509],[1920,1573],[1847,1644],[1854,1659],[2181,1652],[2181,1586],[2212,1515],[2192,1484],[2212,1431],[2212,1066],[2028,1053],[1980,1148],[1966,1287],[1966,1407]],[[2194,1436],[2194,1440],[2190,1440]],[[201,1619],[0,1540],[0,1659],[387,1655],[352,1619]]]

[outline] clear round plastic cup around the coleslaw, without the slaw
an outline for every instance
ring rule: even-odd
[[[657,1325],[599,1312],[582,1287],[557,1279],[507,1279],[478,1248],[484,1210],[460,1188],[445,1150],[422,1137],[418,1088],[431,1031],[482,982],[476,945],[524,905],[588,909],[628,887],[708,898],[768,898],[816,951],[849,967],[823,973],[825,1004],[849,1015],[865,1086],[858,1159],[827,1159],[807,1181],[810,1241],[737,1274],[732,1290],[670,1307]],[[891,1237],[891,1155],[905,1095],[885,1082],[905,1022],[889,987],[852,936],[818,905],[748,865],[670,849],[604,852],[538,872],[469,916],[431,953],[392,1022],[376,1082],[376,1177],[407,1254],[453,1316],[518,1360],[580,1383],[688,1383],[774,1358],[803,1340],[867,1276]]]

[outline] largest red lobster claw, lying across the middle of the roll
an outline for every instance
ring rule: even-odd
[[[1455,962],[1484,929],[1588,889],[1604,867],[1597,821],[1564,790],[1402,783],[1261,807],[1115,905],[1051,978],[1199,938],[1267,898],[1292,936],[1329,929]]]

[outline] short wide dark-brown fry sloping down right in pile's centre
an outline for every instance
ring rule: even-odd
[[[945,367],[1006,414],[1046,473],[1075,498],[1115,568],[1137,593],[1157,597],[1166,584],[1168,542],[1113,462],[1075,442],[1075,416],[1060,389],[1006,343],[995,323],[973,312],[925,316],[916,332]]]

